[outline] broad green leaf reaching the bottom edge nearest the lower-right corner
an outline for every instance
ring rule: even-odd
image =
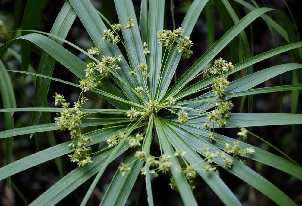
[[[204,152],[201,150],[203,146],[207,145],[209,150],[212,152],[221,151],[216,146],[208,143],[207,141],[198,138],[196,135],[192,134],[192,130],[182,129],[180,127],[175,127],[172,124],[169,124],[173,130],[175,130],[180,137],[185,140],[196,152],[204,155]],[[246,165],[240,163],[238,160],[234,159],[232,156],[225,153],[225,156],[229,159],[233,159],[232,168],[224,168],[230,173],[233,173],[255,189],[262,192],[272,201],[278,205],[296,205],[287,195],[285,195],[280,189],[275,185],[269,182],[267,179],[259,175],[257,172],[253,171]],[[214,162],[223,167],[223,158],[217,157],[214,159]]]

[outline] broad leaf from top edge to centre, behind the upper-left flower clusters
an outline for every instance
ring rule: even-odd
[[[78,14],[78,17],[82,21],[82,24],[84,25],[85,29],[87,30],[94,44],[97,45],[98,43],[100,43],[103,38],[101,32],[103,30],[107,30],[107,27],[105,26],[102,19],[99,17],[92,3],[86,0],[69,0],[69,2],[71,3],[72,7]],[[120,68],[122,69],[120,69],[118,73],[129,85],[132,86],[132,88],[135,88],[136,87],[135,82],[128,74],[128,72],[130,71],[130,67],[128,66],[127,61],[125,60],[122,53],[118,49],[117,45],[113,45],[109,41],[104,41],[101,44],[100,49],[103,55],[122,56],[122,60],[118,63]],[[117,80],[117,84],[120,86],[120,88],[124,91],[124,94],[126,94],[130,100],[136,103],[140,102],[140,99],[126,85],[124,85],[118,80]],[[122,109],[122,107],[118,107],[118,108]]]

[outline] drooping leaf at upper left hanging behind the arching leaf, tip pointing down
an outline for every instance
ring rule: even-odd
[[[66,1],[58,17],[56,18],[56,21],[53,24],[50,34],[57,35],[65,39],[75,18],[76,18],[76,13],[74,12],[70,3]],[[59,45],[63,45],[62,41],[55,39],[53,37],[49,37],[49,38],[54,40]],[[47,52],[43,51],[37,73],[45,76],[52,76],[55,63],[56,60],[52,56],[50,56]],[[44,101],[47,97],[47,93],[49,90],[50,80],[42,77],[37,77],[36,82],[37,83],[35,85],[33,107],[43,107]],[[41,112],[32,113],[31,125],[37,125],[39,123],[40,115]]]

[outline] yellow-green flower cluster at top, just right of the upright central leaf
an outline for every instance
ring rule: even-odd
[[[158,42],[163,43],[168,50],[171,49],[174,42],[177,43],[176,49],[178,53],[182,52],[182,57],[190,58],[192,56],[192,41],[190,37],[183,36],[184,31],[181,27],[171,30],[162,30],[157,32]]]

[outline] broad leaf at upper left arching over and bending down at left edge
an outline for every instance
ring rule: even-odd
[[[6,42],[0,47],[0,56],[2,56],[5,50],[7,50],[7,48],[18,39],[25,39],[31,41],[32,43],[36,44],[41,49],[46,51],[48,54],[53,56],[58,62],[63,64],[63,66],[65,66],[77,77],[79,77],[79,79],[85,79],[84,68],[86,67],[86,64],[61,45],[41,34],[27,34],[25,36],[18,37]],[[120,90],[118,90],[108,80],[103,80],[104,81],[102,81],[100,84],[101,89],[103,89],[105,92],[108,91],[111,94],[116,95],[117,97],[124,97]],[[108,100],[112,105],[116,106],[117,108],[125,109],[125,105],[119,101],[116,101],[116,99],[114,100],[112,98],[106,98],[106,100]]]

